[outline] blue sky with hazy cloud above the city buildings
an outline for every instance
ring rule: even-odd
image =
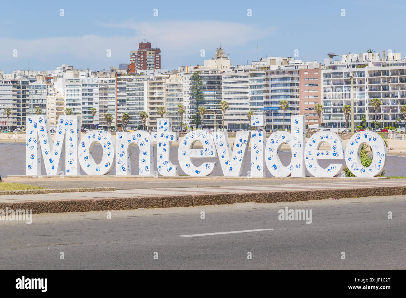
[[[328,52],[406,56],[404,1],[46,2],[0,2],[0,70],[109,69],[129,63],[144,32],[169,70],[203,64],[220,43],[234,66],[295,53],[321,63]]]

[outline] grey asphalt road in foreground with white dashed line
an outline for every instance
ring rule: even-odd
[[[279,221],[285,207],[311,209],[312,223]],[[37,214],[0,221],[0,270],[404,270],[405,226],[406,196]],[[251,229],[271,230],[179,237]]]

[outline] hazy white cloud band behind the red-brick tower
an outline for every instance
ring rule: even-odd
[[[125,21],[120,24],[102,24],[106,28],[134,30],[132,36],[83,36],[50,37],[40,39],[11,39],[0,37],[0,61],[18,64],[20,59],[33,59],[43,63],[60,65],[62,63],[86,63],[106,65],[127,62],[129,51],[138,48],[147,32],[147,40],[153,47],[160,47],[163,66],[172,64],[173,58],[196,55],[196,63],[202,62],[200,49],[205,49],[206,57],[214,54],[220,42],[229,49],[242,47],[250,41],[269,36],[274,28],[262,28],[255,24],[241,24],[226,21],[166,21],[137,23]],[[110,30],[109,30],[110,31]],[[121,30],[118,30],[121,31]],[[18,57],[13,57],[13,49]],[[106,57],[111,49],[112,57]],[[232,53],[230,53],[232,55]],[[68,61],[67,61],[68,60]]]

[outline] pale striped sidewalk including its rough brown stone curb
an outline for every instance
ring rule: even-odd
[[[186,207],[238,202],[294,202],[313,199],[406,194],[405,180],[276,184],[272,186],[176,187],[78,193],[0,195],[0,209],[33,213],[86,212],[138,208]]]

